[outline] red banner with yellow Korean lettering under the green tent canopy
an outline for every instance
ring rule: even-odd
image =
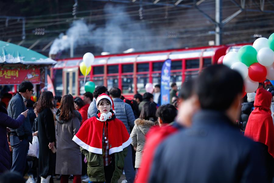
[[[5,69],[0,70],[0,84],[20,84],[22,81],[40,84],[39,69]]]

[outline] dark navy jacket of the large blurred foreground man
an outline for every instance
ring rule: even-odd
[[[156,150],[149,182],[266,182],[262,152],[229,118],[199,111]]]

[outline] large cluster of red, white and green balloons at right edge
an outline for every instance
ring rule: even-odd
[[[274,33],[268,39],[256,39],[253,46],[241,47],[238,53],[227,53],[218,60],[221,63],[241,74],[246,93],[254,92],[259,83],[274,80]]]

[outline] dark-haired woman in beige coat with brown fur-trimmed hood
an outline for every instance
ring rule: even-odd
[[[145,135],[149,129],[157,124],[156,105],[153,102],[146,102],[142,107],[140,117],[134,121],[135,126],[130,134],[131,144],[136,151],[135,168],[139,168],[141,156],[145,145]]]

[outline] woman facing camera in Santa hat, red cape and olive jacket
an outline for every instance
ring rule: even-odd
[[[103,93],[96,99],[97,116],[86,120],[73,141],[88,161],[90,182],[117,183],[132,142],[121,120],[115,117],[114,103]]]

